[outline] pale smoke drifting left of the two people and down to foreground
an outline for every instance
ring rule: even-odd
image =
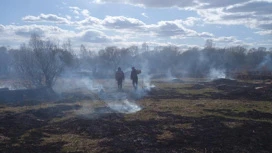
[[[123,83],[123,86],[125,84],[126,82]],[[76,111],[78,115],[87,118],[106,113],[128,114],[138,112],[141,107],[136,104],[135,99],[145,95],[141,89],[134,91],[134,89],[126,87],[123,88],[123,91],[118,91],[114,79],[95,79],[69,73],[66,73],[65,77],[63,76],[56,82],[54,90],[60,94],[80,92],[82,95],[90,97],[91,101],[83,103],[82,108]],[[103,105],[103,109],[97,109],[97,106],[93,105],[94,102],[98,101],[100,105]]]

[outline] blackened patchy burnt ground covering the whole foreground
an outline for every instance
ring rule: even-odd
[[[27,107],[1,105],[0,152],[271,152],[269,84],[155,84],[137,100],[143,109],[132,114],[78,94]],[[84,116],[75,113],[86,103],[96,105]]]

